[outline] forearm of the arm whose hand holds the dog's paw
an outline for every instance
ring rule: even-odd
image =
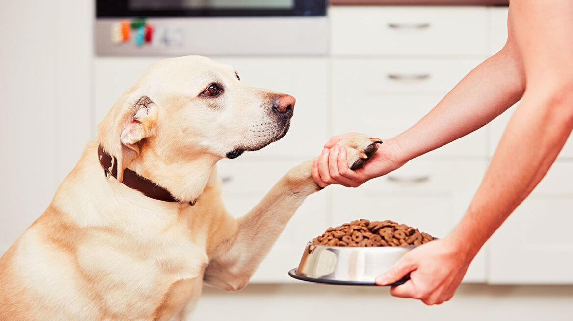
[[[523,69],[510,45],[472,70],[425,117],[394,140],[407,162],[492,121],[519,101]]]

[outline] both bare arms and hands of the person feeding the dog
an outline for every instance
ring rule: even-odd
[[[357,187],[410,159],[472,133],[522,99],[464,217],[445,238],[410,251],[376,279],[383,285],[410,273],[390,292],[441,304],[505,219],[545,176],[573,129],[573,2],[521,0],[509,5],[508,41],[468,74],[409,130],[388,139],[360,170],[342,160],[332,137],[312,176],[321,186]],[[500,183],[501,182],[501,183]]]

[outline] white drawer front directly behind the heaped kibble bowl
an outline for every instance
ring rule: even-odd
[[[359,188],[332,187],[332,225],[358,218],[391,219],[443,238],[464,215],[485,166],[485,160],[437,162],[422,157]],[[465,282],[484,282],[482,252]]]

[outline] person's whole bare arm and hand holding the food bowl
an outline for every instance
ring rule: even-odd
[[[391,289],[395,296],[426,304],[452,298],[478,250],[540,182],[573,129],[573,44],[567,41],[573,3],[512,2],[509,21],[523,53],[527,91],[461,222],[376,280],[388,284],[409,273],[409,282]]]

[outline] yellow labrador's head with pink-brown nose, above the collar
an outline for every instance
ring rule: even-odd
[[[283,137],[294,106],[292,96],[245,86],[233,68],[211,59],[164,59],[116,102],[98,138],[121,170],[145,148],[166,162],[236,158]]]

